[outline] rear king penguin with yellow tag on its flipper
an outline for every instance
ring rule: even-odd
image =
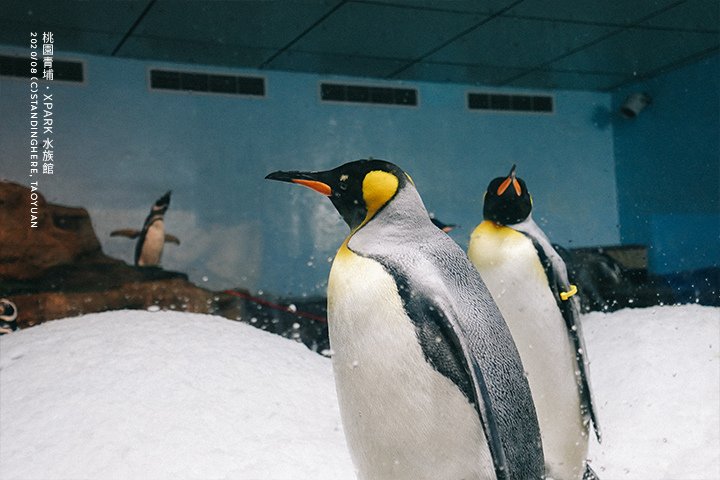
[[[495,178],[468,257],[510,327],[537,410],[548,478],[597,478],[587,465],[589,423],[600,440],[588,381],[575,286],[532,219],[532,198],[515,176]]]

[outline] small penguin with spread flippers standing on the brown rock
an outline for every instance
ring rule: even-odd
[[[163,248],[166,242],[180,245],[180,240],[172,235],[165,234],[163,218],[170,206],[170,191],[158,198],[145,219],[142,230],[115,230],[111,237],[137,238],[135,245],[135,265],[138,267],[156,267],[160,264]]]

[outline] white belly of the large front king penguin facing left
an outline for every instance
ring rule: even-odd
[[[343,426],[360,479],[494,479],[475,408],[425,359],[396,283],[344,247],[328,283]]]

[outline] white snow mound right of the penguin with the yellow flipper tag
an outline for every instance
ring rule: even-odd
[[[720,308],[665,306],[583,319],[602,479],[720,479]]]

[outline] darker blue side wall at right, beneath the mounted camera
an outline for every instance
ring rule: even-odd
[[[720,265],[720,68],[717,55],[613,93],[652,104],[615,119],[623,243],[650,246],[657,273]]]

